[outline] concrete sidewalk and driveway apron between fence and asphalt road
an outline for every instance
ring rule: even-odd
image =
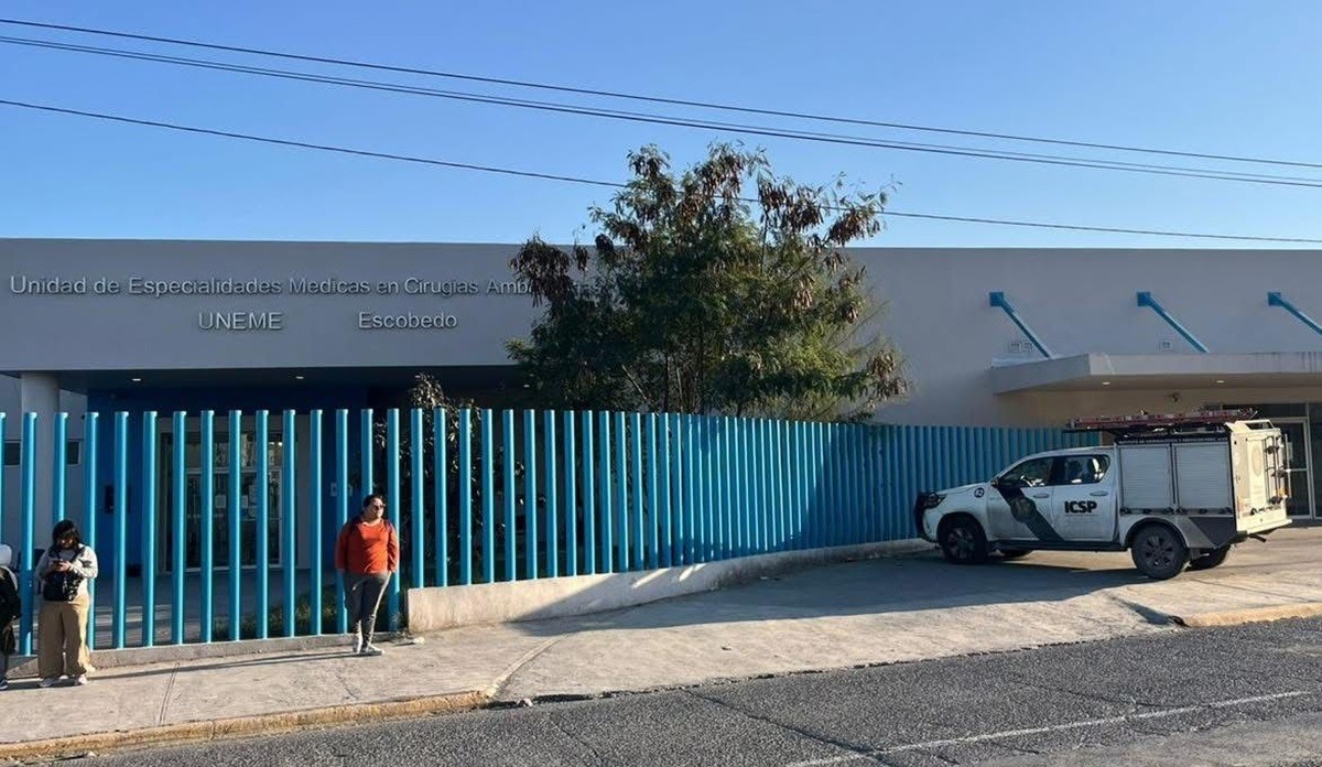
[[[490,702],[640,692],[1322,615],[1322,528],[1249,541],[1219,569],[1153,582],[1128,554],[980,567],[925,549],[575,619],[106,669],[85,688],[0,693],[0,760],[275,733]]]

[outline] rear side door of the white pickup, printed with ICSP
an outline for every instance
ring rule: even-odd
[[[1066,541],[1110,541],[1116,537],[1116,479],[1104,452],[1060,458],[1052,477],[1048,518]]]

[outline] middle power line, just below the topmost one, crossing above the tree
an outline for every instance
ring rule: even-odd
[[[451,91],[451,90],[436,90],[419,86],[407,86],[398,83],[385,83],[375,81],[352,79],[341,77],[321,75],[313,73],[291,71],[280,69],[270,69],[260,66],[237,65],[229,62],[206,61],[196,58],[184,58],[175,56],[164,56],[156,53],[144,53],[134,50],[122,50],[114,48],[99,48],[99,46],[86,46],[74,45],[66,42],[52,42],[45,40],[30,40],[21,37],[0,37],[0,44],[11,45],[24,45],[32,48],[45,48],[63,52],[74,53],[89,53],[95,56],[108,56],[114,58],[127,58],[135,61],[148,61],[156,63],[171,63],[178,66],[189,66],[197,69],[209,69],[219,71],[231,71],[241,74],[255,74],[262,77],[272,77],[279,79],[297,81],[297,82],[313,82],[324,85],[337,85],[356,89],[366,89],[385,93],[397,94],[410,94],[410,95],[424,95],[432,98],[453,99],[461,102],[472,103],[485,103],[494,106],[517,107],[537,111],[550,111],[559,114],[572,114],[583,116],[596,116],[607,118],[613,120],[625,120],[635,123],[649,123],[673,127],[686,127],[686,128],[702,128],[724,131],[743,135],[754,136],[767,136],[767,138],[783,138],[783,139],[797,139],[806,141],[828,143],[828,144],[842,144],[854,147],[867,147],[867,148],[880,148],[880,149],[898,149],[910,152],[925,152],[936,155],[952,155],[962,157],[977,157],[977,159],[993,159],[993,160],[1007,160],[1018,163],[1034,163],[1046,165],[1060,165],[1068,168],[1091,168],[1099,171],[1120,171],[1129,173],[1146,173],[1155,176],[1173,176],[1183,179],[1204,179],[1215,181],[1237,181],[1245,184],[1268,184],[1268,185],[1284,185],[1284,186],[1305,186],[1305,188],[1319,188],[1322,186],[1322,180],[1306,179],[1297,176],[1272,176],[1261,173],[1239,173],[1239,172],[1223,172],[1211,171],[1203,168],[1185,168],[1178,165],[1155,165],[1147,163],[1126,163],[1118,160],[1091,160],[1080,157],[1068,157],[1059,155],[1038,155],[1026,152],[1009,152],[1001,149],[980,149],[969,147],[953,147],[944,144],[921,144],[912,141],[880,141],[861,136],[849,136],[839,134],[824,134],[812,131],[797,131],[797,130],[783,130],[765,126],[748,126],[738,123],[720,123],[713,120],[698,120],[686,118],[674,118],[668,115],[656,115],[648,112],[631,112],[623,110],[605,110],[596,107],[582,107],[575,104],[563,104],[555,102],[541,102],[530,99],[516,99],[508,97],[496,97],[489,94],[473,94],[464,91]]]

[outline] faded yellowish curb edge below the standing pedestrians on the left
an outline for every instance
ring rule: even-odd
[[[423,698],[399,698],[324,709],[305,709],[301,711],[235,717],[210,722],[184,722],[118,733],[70,735],[26,743],[0,743],[0,762],[33,758],[69,758],[93,755],[102,751],[196,743],[222,738],[278,735],[309,727],[362,723],[364,721],[379,723],[428,714],[455,714],[486,707],[490,704],[490,696],[473,690]]]

